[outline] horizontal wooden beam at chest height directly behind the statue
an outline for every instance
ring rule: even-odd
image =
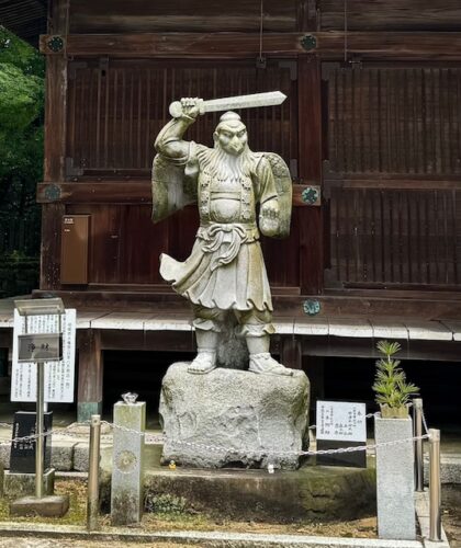
[[[305,207],[308,182],[293,184],[293,205]],[[151,204],[150,181],[47,182],[37,186],[40,204]]]

